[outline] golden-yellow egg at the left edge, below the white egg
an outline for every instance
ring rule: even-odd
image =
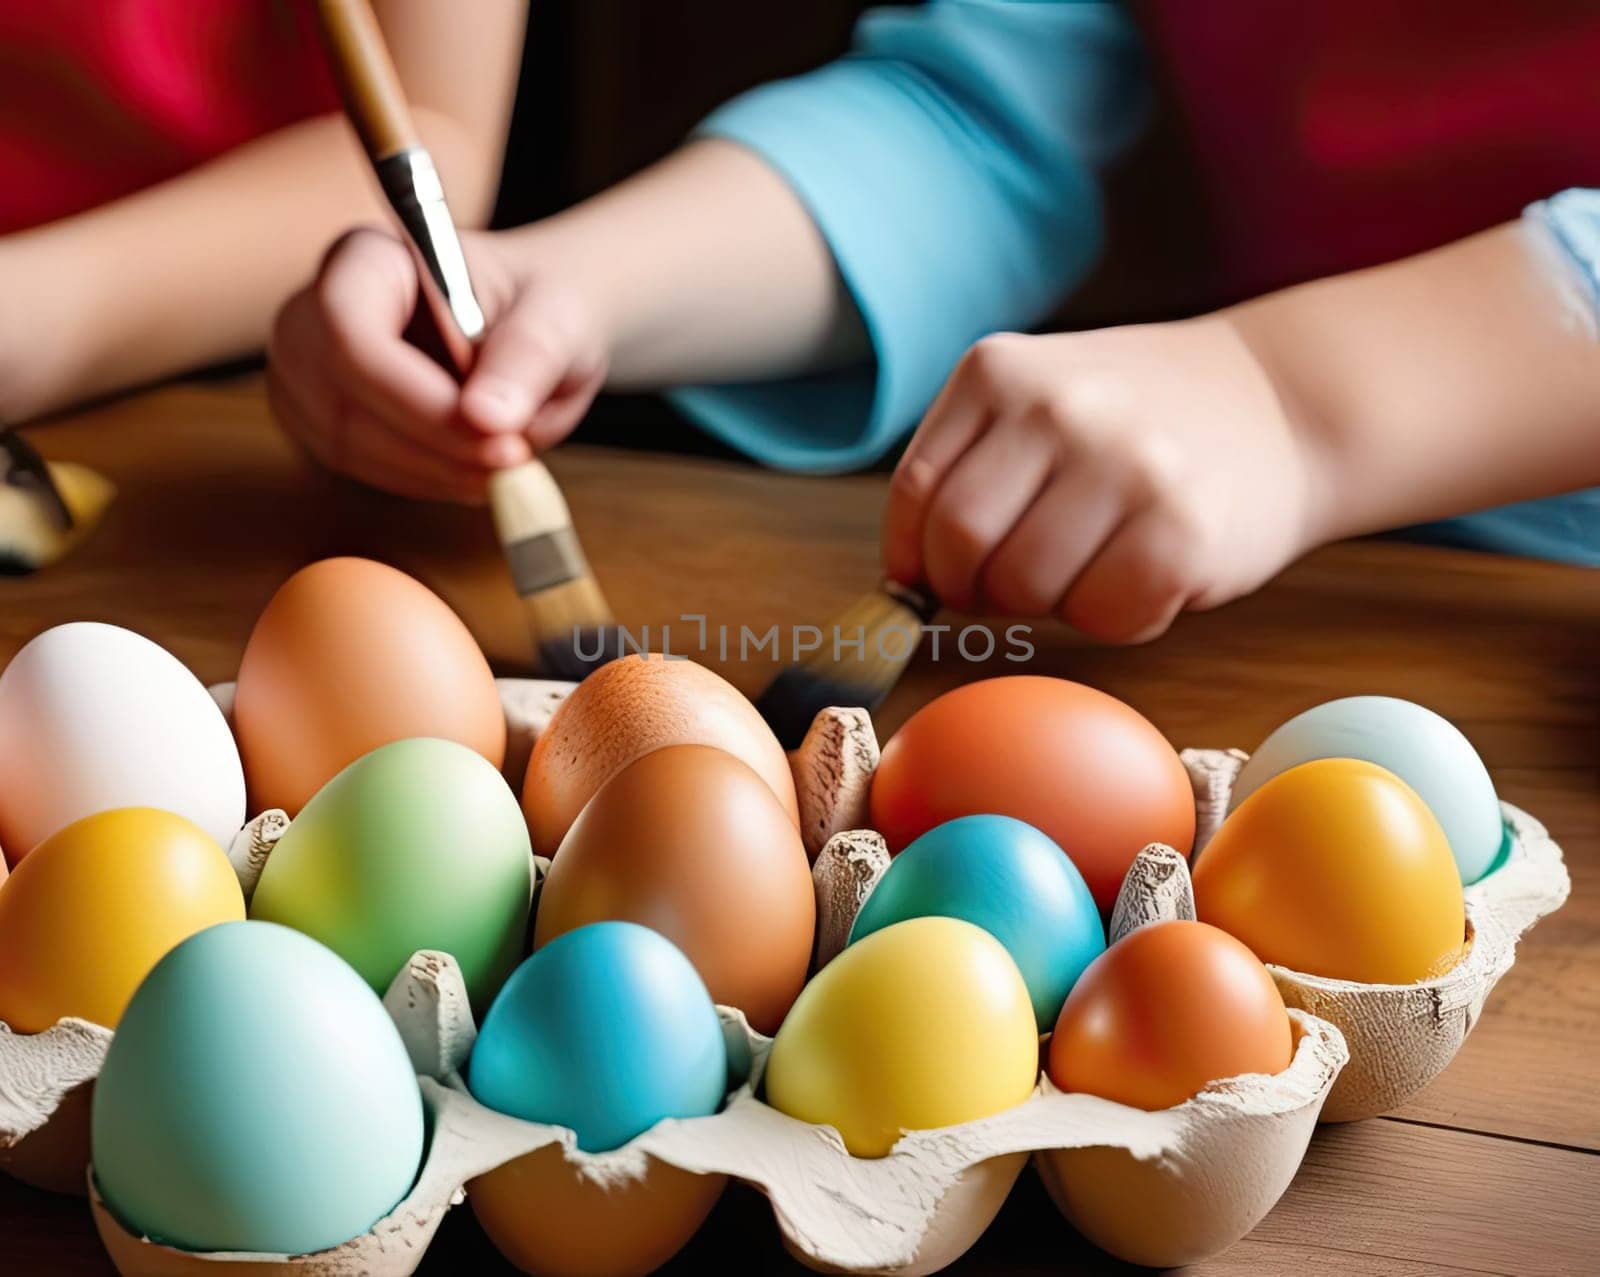
[[[234,867],[197,824],[150,807],[85,816],[0,891],[0,1021],[21,1034],[62,1016],[114,1029],[170,949],[243,917]]]

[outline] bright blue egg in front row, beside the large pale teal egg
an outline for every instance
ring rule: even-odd
[[[728,1053],[710,994],[666,936],[597,922],[526,959],[483,1018],[467,1085],[480,1104],[570,1127],[603,1152],[664,1117],[722,1104]]]

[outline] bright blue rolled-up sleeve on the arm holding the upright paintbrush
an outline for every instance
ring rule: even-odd
[[[827,376],[688,387],[710,434],[784,469],[886,453],[986,333],[1027,328],[1101,248],[1096,166],[1146,118],[1115,5],[931,0],[867,13],[850,54],[701,125],[762,155],[816,221],[872,342]]]

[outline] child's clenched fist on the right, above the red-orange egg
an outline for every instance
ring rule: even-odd
[[[992,336],[894,470],[885,560],[958,610],[1152,638],[1317,544],[1312,451],[1226,317]]]

